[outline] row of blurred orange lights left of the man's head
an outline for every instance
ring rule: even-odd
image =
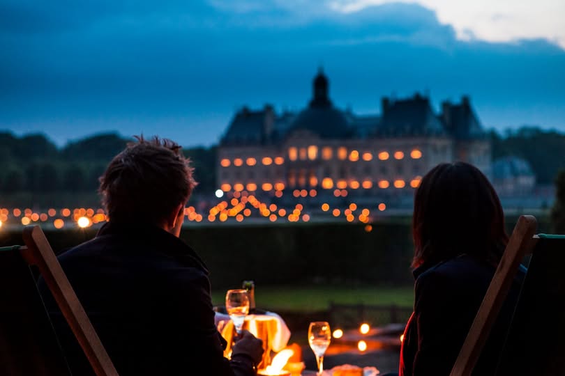
[[[33,212],[33,210],[27,208],[21,210],[15,208],[12,210],[13,217],[20,218],[20,222],[23,226],[31,224],[31,222],[46,222],[53,217],[57,217],[57,210],[50,208],[47,212]],[[59,210],[59,216],[63,218],[72,219],[79,227],[85,228],[92,226],[92,224],[98,224],[100,222],[107,221],[106,214],[103,209],[97,209],[96,211],[92,208],[85,209],[81,207],[80,209],[74,209],[72,212],[68,208],[63,208]],[[0,209],[0,227],[8,221],[10,217],[10,210],[7,208]],[[63,218],[56,218],[53,220],[53,226],[55,228],[63,228],[65,226],[65,220]]]

